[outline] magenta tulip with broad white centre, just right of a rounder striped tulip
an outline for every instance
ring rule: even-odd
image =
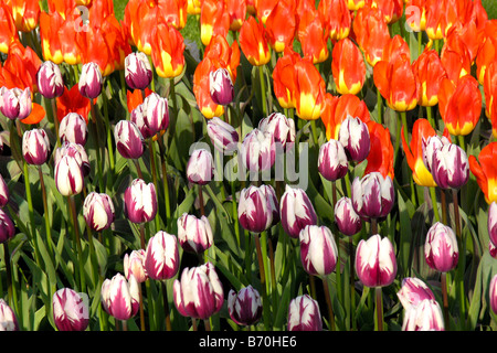
[[[157,214],[156,186],[141,179],[135,179],[125,191],[126,215],[133,223],[154,220]]]

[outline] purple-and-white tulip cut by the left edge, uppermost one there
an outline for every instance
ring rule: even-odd
[[[4,88],[0,90],[0,111],[9,119],[24,119],[31,114],[31,89]]]

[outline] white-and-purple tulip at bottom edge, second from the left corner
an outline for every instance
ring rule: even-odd
[[[52,297],[52,307],[59,331],[85,331],[88,327],[88,306],[75,290],[59,289]]]

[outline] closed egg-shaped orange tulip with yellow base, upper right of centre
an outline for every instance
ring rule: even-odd
[[[366,64],[362,53],[346,38],[338,41],[332,50],[331,73],[339,94],[357,95],[366,81]]]

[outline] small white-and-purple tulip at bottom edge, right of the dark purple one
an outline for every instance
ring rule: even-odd
[[[287,328],[288,331],[322,331],[318,302],[308,295],[292,299]]]

